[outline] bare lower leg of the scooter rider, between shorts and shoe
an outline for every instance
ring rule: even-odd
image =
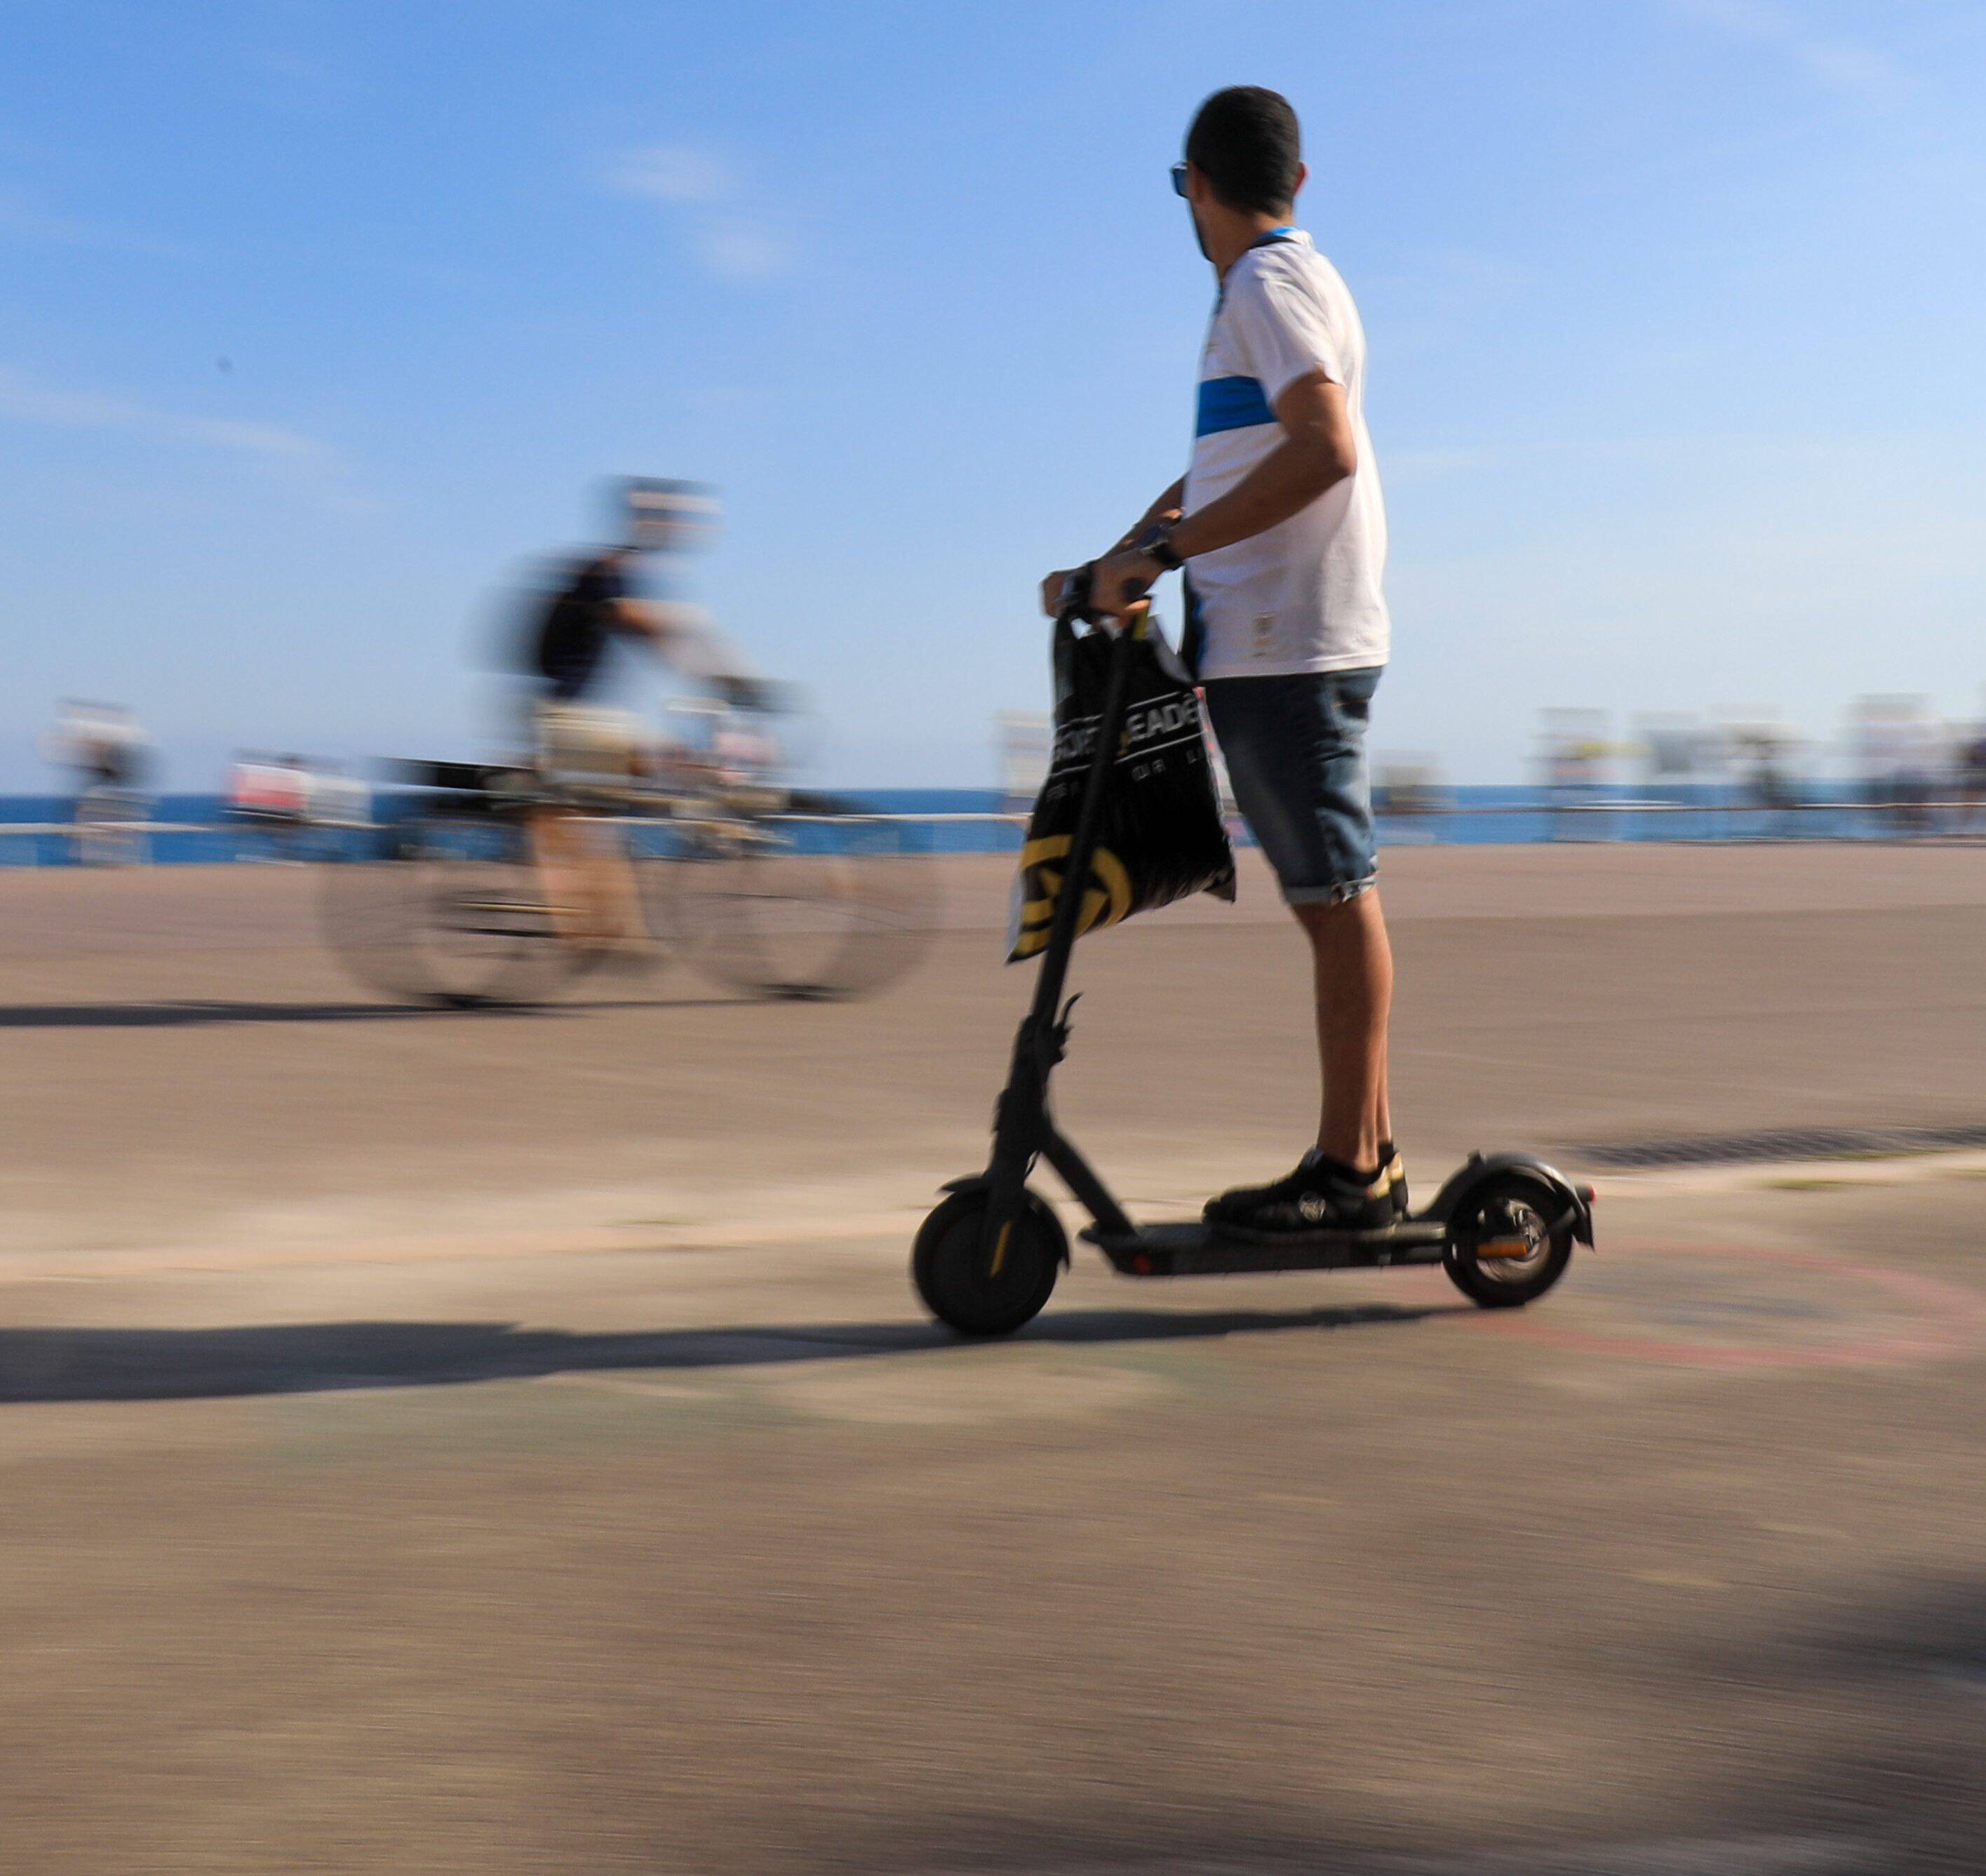
[[[1392,1139],[1386,1088],[1386,1020],[1392,1010],[1392,945],[1378,889],[1337,905],[1297,905],[1317,981],[1317,1058],[1325,1092],[1319,1151],[1366,1171]]]

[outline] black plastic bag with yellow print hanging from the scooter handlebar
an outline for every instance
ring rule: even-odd
[[[1055,627],[1055,752],[1021,848],[1007,963],[1035,957],[1049,943],[1114,651],[1108,633],[1076,637],[1066,621]],[[1076,929],[1100,931],[1192,893],[1233,899],[1235,856],[1221,824],[1200,697],[1178,653],[1148,621],[1130,647],[1124,729],[1116,760],[1104,770],[1096,856]]]

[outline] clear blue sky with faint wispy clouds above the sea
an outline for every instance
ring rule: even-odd
[[[1978,709],[1976,0],[12,0],[0,42],[0,786],[70,693],[179,786],[475,748],[506,576],[612,472],[723,486],[699,596],[826,776],[991,780],[1035,578],[1184,463],[1166,165],[1235,81],[1297,103],[1370,337],[1382,750]]]

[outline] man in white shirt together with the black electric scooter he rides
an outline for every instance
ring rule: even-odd
[[[1289,224],[1303,185],[1295,113],[1273,91],[1215,93],[1174,185],[1221,282],[1194,461],[1108,554],[1043,584],[1059,671],[1082,649],[1100,683],[1080,705],[1070,689],[1057,701],[1072,824],[1055,836],[1057,866],[1029,881],[1035,943],[1017,955],[1039,957],[1039,969],[993,1106],[993,1147],[985,1171],[947,1181],[912,1245],[912,1280],[959,1334],[1031,1322],[1068,1263],[1063,1221],[1029,1183],[1045,1165],[1088,1213],[1082,1239],[1120,1276],[1440,1265],[1478,1306],[1523,1308],[1557,1284],[1575,1245],[1593,1243],[1591,1187],[1529,1153],[1470,1153],[1414,1211],[1390,1138],[1392,955],[1364,772],[1388,647],[1386,520],[1364,431],[1358,314]],[[1317,1145],[1289,1177],[1221,1193],[1194,1223],[1138,1223],[1057,1124],[1049,1082],[1068,1052],[1070,955],[1110,897],[1092,873],[1106,860],[1122,871],[1102,842],[1104,804],[1138,786],[1146,760],[1130,735],[1132,671],[1140,651],[1156,655],[1138,602],[1182,564],[1186,651],[1235,798],[1311,939],[1325,1100]],[[1092,635],[1078,637],[1084,623]],[[1106,647],[1094,633],[1108,633]],[[1198,719],[1190,697],[1180,709]]]

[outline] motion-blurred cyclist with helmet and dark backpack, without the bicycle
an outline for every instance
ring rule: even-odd
[[[757,701],[761,685],[699,607],[634,592],[643,556],[707,542],[715,496],[695,482],[630,480],[620,500],[620,542],[564,570],[526,647],[532,760],[554,796],[526,824],[560,937],[632,957],[647,949],[634,871],[620,840],[588,810],[610,806],[632,778],[653,776],[657,750],[630,711],[600,701],[614,645],[645,643],[731,703]]]

